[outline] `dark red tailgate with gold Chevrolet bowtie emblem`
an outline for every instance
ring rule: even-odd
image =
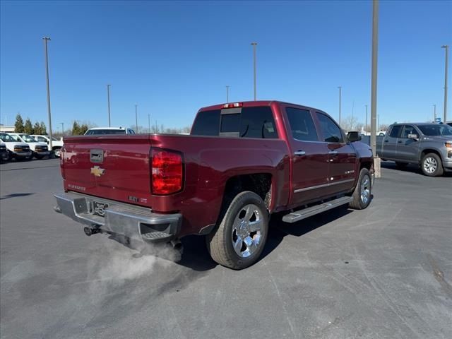
[[[66,190],[150,207],[149,136],[71,137],[64,149]]]

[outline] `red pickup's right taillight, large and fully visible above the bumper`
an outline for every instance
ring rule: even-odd
[[[182,190],[182,155],[168,150],[152,150],[152,193],[172,194]]]

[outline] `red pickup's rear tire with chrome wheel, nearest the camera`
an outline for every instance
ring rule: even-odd
[[[224,215],[220,225],[206,237],[213,260],[234,270],[256,263],[268,236],[268,211],[262,198],[251,191],[239,193],[220,215]]]

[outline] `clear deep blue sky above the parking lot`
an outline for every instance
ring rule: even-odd
[[[42,37],[48,35],[54,129],[191,125],[199,107],[258,99],[318,107],[364,122],[370,107],[371,1],[1,1],[0,121],[47,124]],[[381,1],[381,124],[442,117],[452,1]],[[451,79],[452,56],[449,67]],[[451,117],[449,81],[448,119]],[[370,108],[369,108],[370,116]]]

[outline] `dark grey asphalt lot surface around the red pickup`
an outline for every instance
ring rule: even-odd
[[[452,338],[452,176],[383,163],[366,210],[273,218],[235,271],[54,213],[59,160],[0,165],[1,338]]]

